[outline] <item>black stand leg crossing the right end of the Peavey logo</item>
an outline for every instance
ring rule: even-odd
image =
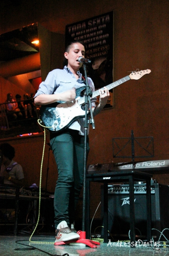
[[[134,179],[129,176],[129,200],[130,200],[130,242],[131,247],[135,245],[135,210],[134,210]]]

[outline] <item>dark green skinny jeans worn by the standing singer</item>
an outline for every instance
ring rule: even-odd
[[[89,138],[87,141],[89,153]],[[54,197],[57,228],[62,220],[65,220],[68,226],[75,220],[75,208],[83,185],[84,136],[79,135],[77,130],[66,129],[51,138],[50,144],[58,169]]]

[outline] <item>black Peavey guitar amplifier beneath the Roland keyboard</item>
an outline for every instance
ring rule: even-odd
[[[130,230],[129,185],[108,185],[108,231],[112,236],[128,237]],[[146,184],[134,185],[135,232],[147,235]],[[151,186],[152,228],[169,228],[169,186],[154,183]],[[101,216],[103,217],[103,186],[101,186]],[[104,225],[103,225],[104,226]],[[103,235],[103,231],[102,231]],[[153,237],[160,232],[152,230]],[[169,237],[169,230],[165,231]]]

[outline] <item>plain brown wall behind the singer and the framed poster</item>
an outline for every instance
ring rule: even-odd
[[[96,129],[92,130],[90,127],[88,163],[129,161],[130,159],[113,158],[112,138],[130,137],[131,130],[134,131],[135,137],[154,137],[155,160],[169,159],[168,0],[80,2],[39,0],[21,1],[21,6],[13,8],[9,1],[3,3],[8,3],[8,6],[4,4],[6,8],[3,9],[3,6],[0,8],[2,13],[0,33],[38,21],[46,29],[64,34],[67,24],[113,10],[114,81],[136,69],[148,68],[151,69],[151,73],[138,81],[131,80],[115,88],[114,109],[102,111],[95,117]],[[42,141],[41,137],[11,141],[20,155],[20,163],[24,166],[30,183],[33,180],[38,183]],[[47,154],[46,149],[44,176]],[[50,180],[53,190],[55,184],[53,158],[50,159],[50,165],[49,172],[51,176],[54,175]],[[159,183],[169,184],[169,175],[158,175],[157,180]]]

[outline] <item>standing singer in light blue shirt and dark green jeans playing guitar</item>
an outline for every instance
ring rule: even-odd
[[[85,45],[77,40],[69,43],[64,57],[63,70],[55,69],[49,72],[46,80],[39,85],[39,90],[35,95],[35,104],[48,105],[72,101],[76,97],[75,90],[85,85],[82,74],[79,72],[83,62],[89,63],[89,60],[85,59]],[[94,84],[90,78],[88,78],[88,83],[94,92]],[[96,98],[91,99],[94,116],[100,113],[106,105],[109,91],[104,87],[99,90],[99,94],[100,103],[97,107]],[[83,185],[84,119],[75,120],[69,128],[61,132],[50,133],[50,144],[58,169],[54,197],[55,242],[79,239],[80,236],[74,228],[74,218],[75,207]]]

